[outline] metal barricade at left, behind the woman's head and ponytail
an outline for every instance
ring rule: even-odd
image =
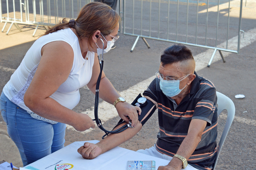
[[[37,28],[53,26],[63,18],[75,19],[80,9],[91,0],[0,0],[0,22],[4,22],[4,31],[7,23],[11,23],[6,34],[18,24],[36,26]]]

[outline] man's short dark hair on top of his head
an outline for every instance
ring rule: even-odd
[[[186,60],[194,60],[191,50],[183,44],[174,44],[164,50],[160,61],[162,66],[182,62]]]

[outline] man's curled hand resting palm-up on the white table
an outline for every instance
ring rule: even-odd
[[[85,159],[93,159],[102,153],[102,149],[97,144],[85,142],[84,146],[81,146],[77,152]]]

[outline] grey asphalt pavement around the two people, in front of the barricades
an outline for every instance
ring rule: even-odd
[[[247,0],[246,6],[243,8],[242,28],[244,28],[245,36],[248,36],[256,33],[256,4],[254,1]],[[0,27],[2,28],[3,26],[4,23],[0,23]],[[4,85],[10,79],[13,71],[19,66],[26,51],[44,31],[43,28],[39,27],[35,37],[32,37],[34,26],[21,25],[21,28],[22,32],[16,27],[12,27],[9,35],[5,34],[7,28],[5,28],[3,33],[0,32],[0,91],[2,91]],[[216,53],[216,57],[213,59],[210,67],[207,67],[207,64],[205,64],[205,66],[196,70],[198,75],[211,80],[217,91],[228,96],[236,107],[235,119],[220,153],[216,169],[255,169],[256,86],[254,83],[256,82],[256,38],[254,38],[255,36],[250,37],[250,42],[247,44],[241,41],[241,44],[244,43],[246,45],[242,46],[239,54],[225,53],[225,63],[221,60],[220,55]],[[173,43],[148,39],[147,41],[150,45],[148,49],[140,39],[133,52],[130,52],[135,39],[136,37],[120,33],[120,38],[116,42],[116,49],[110,50],[104,58],[104,72],[121,94],[132,87],[134,89],[134,85],[152,77],[158,70],[161,52],[173,45]],[[246,42],[248,41],[246,40]],[[188,47],[192,50],[193,56],[200,56],[200,54],[207,52],[207,49],[201,47]],[[204,57],[207,63],[211,54]],[[199,62],[196,62],[197,64],[199,65]],[[135,90],[137,90],[135,93],[143,92],[136,88]],[[93,107],[94,95],[87,88],[82,88],[80,93],[81,101],[74,110],[87,113]],[[245,97],[243,99],[236,99],[235,95],[237,94],[243,94]],[[131,103],[132,100],[128,102]],[[108,110],[104,112],[108,112]],[[113,114],[117,115],[117,113]],[[224,112],[223,114],[225,115],[226,113]],[[225,124],[224,117],[219,119],[218,128],[220,132]],[[114,116],[104,122],[104,127],[111,129],[118,120],[119,117]],[[134,151],[149,148],[155,143],[157,132],[156,112],[143,126],[142,130],[130,141],[123,143],[121,147]],[[101,140],[102,135],[104,135],[104,132],[99,128],[95,128],[87,133],[67,128],[65,145],[75,141]],[[5,122],[0,116],[1,160],[12,162],[13,165],[22,167],[19,151],[8,136]]]

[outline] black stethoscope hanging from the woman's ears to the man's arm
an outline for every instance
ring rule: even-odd
[[[100,79],[101,79],[101,74],[102,74],[102,70],[103,70],[103,51],[104,51],[104,42],[103,40],[100,38],[102,44],[103,44],[103,47],[102,47],[102,55],[101,55],[101,58],[100,58],[100,54],[98,54],[98,58],[99,58],[99,63],[100,63],[100,74],[99,74],[99,77],[98,77],[98,80],[97,80],[97,83],[96,83],[96,91],[95,91],[95,104],[94,104],[94,118],[93,120],[96,121],[98,127],[103,130],[106,134],[102,136],[102,139],[104,139],[104,137],[110,133],[112,134],[116,134],[116,133],[120,133],[120,132],[123,132],[125,129],[127,129],[128,127],[130,128],[133,128],[131,126],[131,122],[127,123],[126,125],[122,126],[121,128],[118,128],[116,130],[113,130],[115,129],[118,125],[124,123],[125,121],[119,121],[119,123],[112,129],[112,131],[108,131],[106,130],[105,128],[103,128],[102,124],[101,124],[101,120],[99,119],[98,117],[98,106],[99,106],[99,87],[100,87]]]

